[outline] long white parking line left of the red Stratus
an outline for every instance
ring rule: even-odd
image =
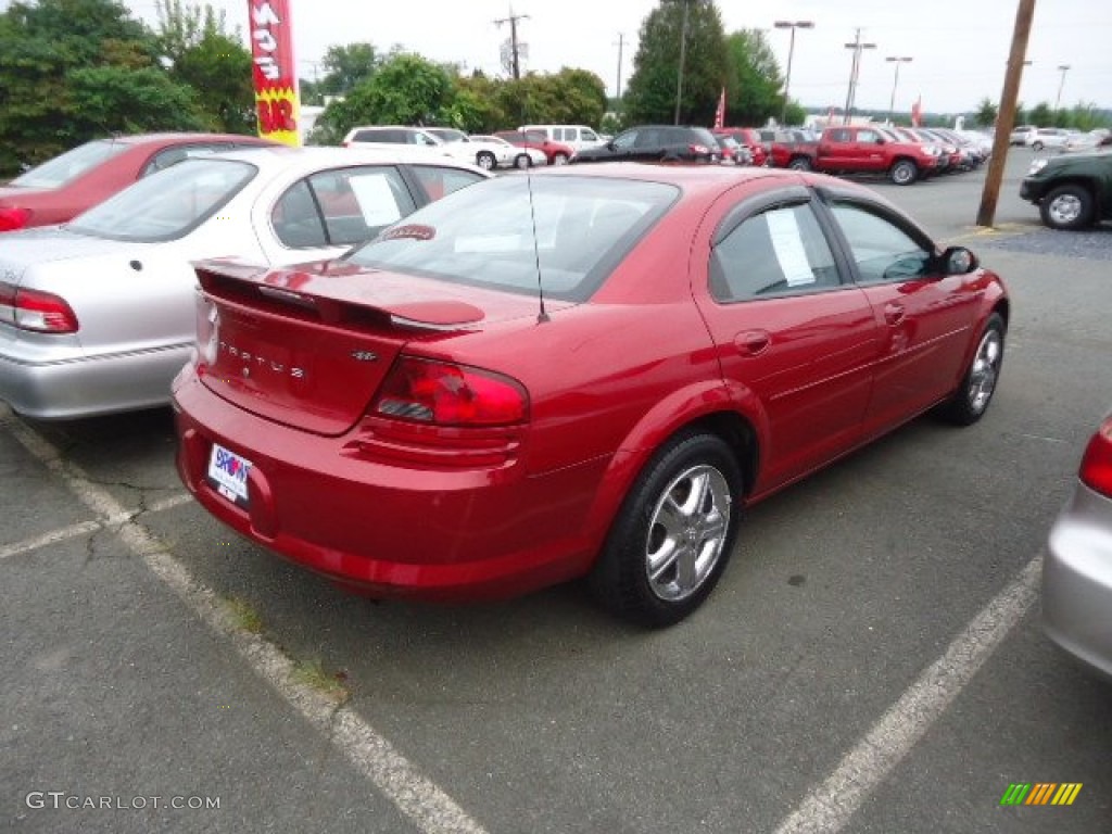
[[[355,711],[337,706],[326,694],[299,683],[294,662],[266,638],[236,627],[217,594],[173,558],[158,539],[136,523],[108,492],[80,467],[64,463],[44,437],[0,405],[0,425],[43,466],[62,478],[70,492],[98,517],[101,527],[117,527],[123,544],[219,637],[231,643],[250,668],[269,683],[304,718],[325,733],[332,745],[425,834],[485,834],[485,830],[440,787],[420,774],[405,756]],[[181,503],[181,496],[167,502]],[[75,525],[75,527],[80,525]],[[67,528],[67,530],[70,528]],[[49,535],[49,534],[48,534]],[[80,535],[80,534],[73,534]]]

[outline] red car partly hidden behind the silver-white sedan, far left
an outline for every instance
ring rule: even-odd
[[[188,156],[249,145],[275,142],[234,133],[143,133],[86,142],[0,186],[0,231],[67,222]]]

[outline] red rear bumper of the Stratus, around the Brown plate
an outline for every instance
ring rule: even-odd
[[[366,459],[351,436],[280,426],[231,406],[191,369],[175,380],[178,473],[214,516],[267,549],[370,596],[488,599],[585,574],[584,533],[605,461],[532,476]],[[212,444],[251,463],[248,506],[208,481]]]

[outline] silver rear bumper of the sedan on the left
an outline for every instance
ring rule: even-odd
[[[58,360],[0,354],[0,399],[40,420],[165,406],[190,346]]]

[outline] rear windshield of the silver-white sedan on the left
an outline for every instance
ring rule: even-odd
[[[113,240],[177,240],[219,211],[257,171],[238,160],[186,159],[78,215],[68,228]]]

